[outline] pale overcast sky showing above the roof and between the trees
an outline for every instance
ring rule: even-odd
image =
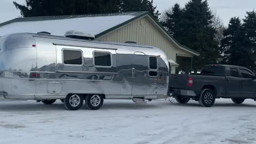
[[[18,3],[25,3],[25,0],[15,0]],[[189,0],[154,0],[157,9],[160,12],[179,3],[182,7]],[[0,0],[0,23],[7,20],[20,17],[20,12],[12,4],[13,0]],[[231,17],[244,18],[246,11],[256,9],[256,0],[208,0],[213,11],[216,11],[219,17],[227,26]]]

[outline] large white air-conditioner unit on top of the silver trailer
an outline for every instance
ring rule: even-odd
[[[87,40],[93,40],[95,38],[94,35],[87,34],[87,33],[80,32],[80,31],[75,31],[75,30],[67,31],[65,36],[71,37],[71,38],[87,39]]]

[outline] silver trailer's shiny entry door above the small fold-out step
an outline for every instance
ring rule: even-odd
[[[145,96],[147,92],[148,57],[143,52],[133,54],[132,95]]]

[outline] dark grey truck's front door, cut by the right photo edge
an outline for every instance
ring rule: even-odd
[[[242,77],[242,93],[241,97],[245,98],[254,98],[255,92],[255,82],[254,75],[251,71],[246,69],[240,69],[241,77]]]

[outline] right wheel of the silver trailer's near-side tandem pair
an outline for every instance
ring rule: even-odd
[[[103,101],[103,97],[98,94],[90,94],[85,97],[85,105],[91,110],[98,110],[102,106]]]

